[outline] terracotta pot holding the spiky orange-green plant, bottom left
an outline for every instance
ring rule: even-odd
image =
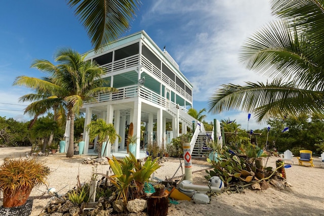
[[[26,203],[31,189],[25,189],[17,192],[16,194],[10,194],[4,190],[4,203],[3,206],[6,208],[20,206]]]

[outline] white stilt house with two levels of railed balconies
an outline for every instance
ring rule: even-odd
[[[173,138],[180,134],[180,122],[182,133],[186,133],[186,127],[192,127],[195,119],[186,113],[192,107],[192,85],[168,52],[161,51],[144,31],[121,38],[101,52],[90,51],[86,60],[100,64],[106,70],[102,78],[118,89],[117,93],[99,95],[96,103],[84,104],[81,110],[86,113],[85,128],[92,114],[114,124],[123,139],[112,144],[113,152],[126,148],[124,138],[130,122],[134,124],[134,135],[138,135],[136,158],[139,158],[141,122],[146,125],[146,142],[154,140],[159,146],[167,142],[166,122],[172,122],[169,134]],[[153,132],[154,123],[156,132]],[[84,140],[87,154],[86,131]]]

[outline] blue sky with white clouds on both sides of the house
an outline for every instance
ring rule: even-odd
[[[53,62],[55,52],[70,47],[79,53],[92,49],[83,26],[65,0],[1,0],[0,9],[0,116],[29,120],[19,97],[28,89],[13,86],[19,75],[45,76],[31,69],[35,59]],[[193,108],[208,109],[208,100],[221,84],[244,84],[266,78],[245,70],[237,61],[242,42],[274,19],[268,0],[142,0],[137,17],[125,35],[140,30],[166,50],[191,81]],[[236,119],[247,128],[248,113],[207,114],[207,121]],[[266,127],[252,115],[249,129]]]

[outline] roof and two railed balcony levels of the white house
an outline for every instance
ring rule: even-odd
[[[106,72],[103,78],[119,90],[115,94],[98,96],[98,102],[141,96],[138,80],[145,77],[141,92],[150,95],[155,103],[165,106],[169,94],[171,102],[181,106],[192,105],[191,83],[172,57],[161,51],[144,31],[121,38],[100,53],[90,51],[86,60],[100,64]]]

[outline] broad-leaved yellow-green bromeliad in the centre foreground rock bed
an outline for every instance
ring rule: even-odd
[[[117,188],[117,199],[123,199],[127,203],[128,199],[133,199],[134,194],[140,196],[144,194],[144,183],[149,181],[152,173],[160,167],[157,159],[153,160],[147,157],[144,164],[130,153],[130,157],[118,160],[114,156],[108,159],[109,165],[114,173],[111,183]],[[136,190],[136,193],[133,192]]]

